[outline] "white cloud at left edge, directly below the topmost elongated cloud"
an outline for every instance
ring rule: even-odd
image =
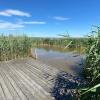
[[[17,23],[10,23],[10,22],[0,22],[0,29],[17,29],[23,28],[24,25],[17,24]]]

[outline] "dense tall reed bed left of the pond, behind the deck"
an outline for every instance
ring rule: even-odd
[[[0,36],[0,61],[30,56],[31,41],[27,36]]]

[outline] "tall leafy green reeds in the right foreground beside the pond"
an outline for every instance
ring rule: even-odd
[[[81,90],[82,100],[100,100],[100,28],[92,33],[95,35],[89,37],[83,70],[89,84]]]

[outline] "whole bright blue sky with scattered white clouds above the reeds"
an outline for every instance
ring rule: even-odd
[[[0,33],[83,37],[100,25],[100,0],[0,0]]]

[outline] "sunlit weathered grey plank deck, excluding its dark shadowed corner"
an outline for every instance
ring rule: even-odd
[[[31,58],[0,62],[0,100],[54,100],[50,92],[57,73]]]

